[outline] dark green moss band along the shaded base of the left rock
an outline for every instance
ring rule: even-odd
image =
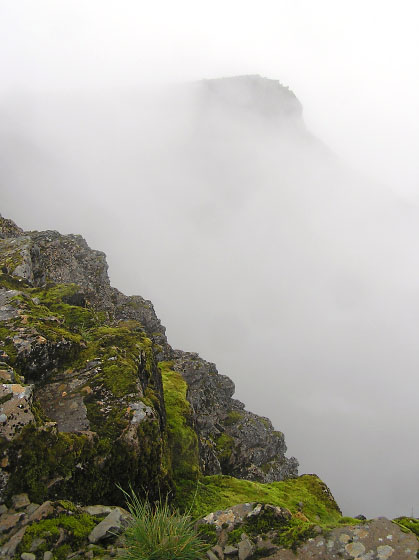
[[[10,461],[8,495],[26,492],[32,502],[70,499],[73,502],[124,505],[117,488],[158,497],[170,490],[170,476],[162,468],[163,440],[157,420],[138,427],[140,449],[123,438],[91,439],[84,434],[26,426],[7,445]],[[50,484],[51,481],[54,484]]]

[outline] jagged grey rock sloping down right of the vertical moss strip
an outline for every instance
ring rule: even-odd
[[[233,399],[234,383],[197,354],[174,352],[173,369],[188,384],[187,399],[199,436],[202,472],[273,482],[297,476],[298,462],[287,459],[284,434],[268,418],[245,410]]]

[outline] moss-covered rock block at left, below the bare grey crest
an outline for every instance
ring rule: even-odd
[[[167,491],[161,377],[141,325],[106,319],[75,284],[10,291],[9,279],[0,274],[11,309],[3,353],[16,376],[35,383],[35,400],[29,425],[1,443],[3,497],[121,503],[115,482],[144,495]],[[5,402],[0,412],[9,412]]]

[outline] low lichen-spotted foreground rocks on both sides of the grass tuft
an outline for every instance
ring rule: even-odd
[[[301,508],[300,508],[301,509]],[[27,494],[12,497],[1,507],[1,555],[21,560],[101,558],[110,560],[124,550],[123,530],[129,513],[116,506],[76,506],[71,502],[33,504]],[[419,555],[418,539],[408,530],[412,520],[370,521],[342,518],[340,526],[313,525],[301,511],[262,503],[246,503],[208,514],[197,522],[210,547],[208,560],[402,560]]]

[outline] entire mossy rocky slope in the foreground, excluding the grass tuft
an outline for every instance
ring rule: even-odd
[[[151,302],[110,286],[103,253],[0,217],[3,557],[119,554],[118,486],[202,518],[209,560],[416,557],[417,520],[343,518],[233,395],[214,364],[171,348]]]

